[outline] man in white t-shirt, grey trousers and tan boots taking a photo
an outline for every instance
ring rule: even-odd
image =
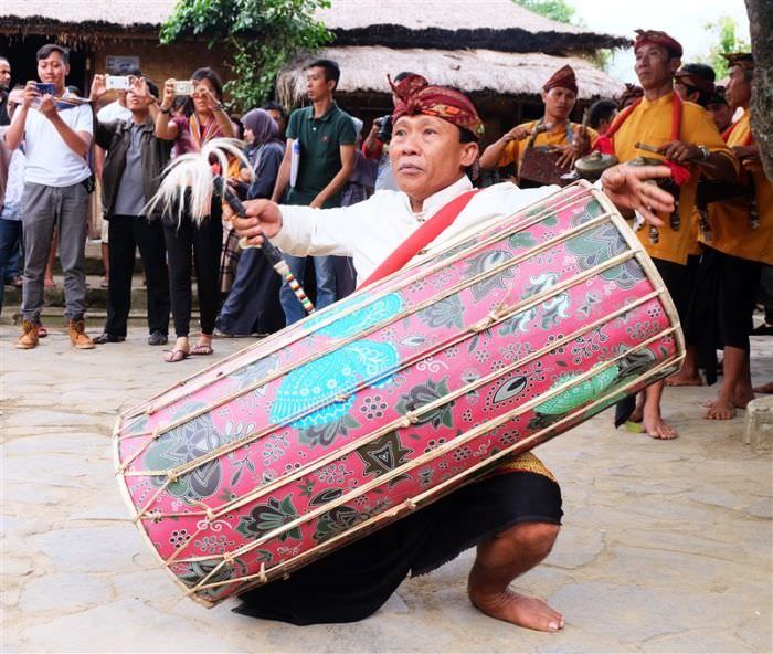
[[[22,221],[24,233],[24,277],[22,286],[22,335],[20,349],[38,346],[38,323],[43,308],[45,263],[54,224],[64,272],[65,318],[70,339],[78,349],[92,349],[86,336],[86,244],[87,184],[92,171],[86,162],[92,145],[93,115],[88,105],[57,108],[70,73],[70,52],[50,43],[38,51],[38,76],[47,88],[28,82],[24,99],[6,134],[15,150],[24,140],[27,167]],[[53,93],[45,93],[53,88]],[[44,93],[41,93],[44,91]]]

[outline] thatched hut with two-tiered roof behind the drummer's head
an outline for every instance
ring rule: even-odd
[[[386,73],[411,71],[469,94],[491,135],[541,115],[542,85],[566,63],[578,75],[578,116],[593,99],[623,91],[592,60],[628,39],[560,23],[512,0],[332,0],[317,15],[335,43],[282,72],[277,92],[285,104],[305,101],[304,67],[318,57],[339,63],[339,102],[358,116],[390,110]]]

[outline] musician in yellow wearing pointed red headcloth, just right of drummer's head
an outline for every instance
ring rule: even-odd
[[[565,65],[555,71],[542,87],[542,118],[513,127],[488,146],[480,156],[480,168],[493,170],[515,161],[520,176],[523,155],[531,145],[561,148],[563,154],[557,165],[569,172],[574,161],[587,152],[591,141],[597,136],[594,129],[583,128],[569,119],[576,99],[576,76],[574,70]]]

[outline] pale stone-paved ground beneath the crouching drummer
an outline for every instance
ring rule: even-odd
[[[204,362],[53,331],[2,366],[2,652],[771,652],[772,457],[743,418],[701,419],[712,390],[669,391],[674,442],[615,432],[604,414],[540,447],[564,527],[519,587],[564,612],[559,634],[495,622],[465,597],[472,553],[407,580],[359,624],[293,627],[180,597],[126,519],[113,477],[116,414]],[[244,341],[218,340],[216,355]],[[773,338],[754,340],[756,381]]]

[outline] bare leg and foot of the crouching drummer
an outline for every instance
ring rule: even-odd
[[[509,589],[510,582],[548,556],[560,527],[520,523],[478,546],[467,581],[467,594],[480,611],[505,622],[538,631],[563,629],[564,618],[537,598]]]

